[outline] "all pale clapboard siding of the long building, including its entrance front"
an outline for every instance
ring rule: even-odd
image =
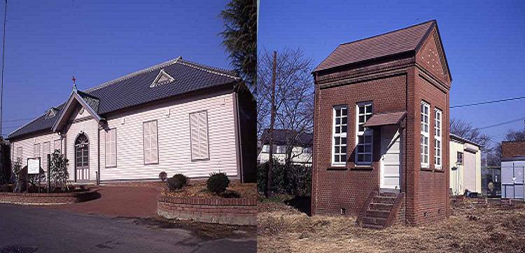
[[[106,132],[99,130],[97,121],[84,110],[78,115],[80,107],[73,112],[66,125],[66,137],[62,141],[62,152],[69,159],[69,178],[75,179],[75,139],[80,132],[89,139],[90,181],[97,179],[100,157],[101,180],[158,179],[161,171],[169,177],[182,173],[188,177],[207,177],[211,172],[225,172],[230,177],[237,175],[237,149],[235,139],[235,120],[233,94],[218,95],[189,102],[164,102],[154,106],[140,107],[133,111],[111,116],[108,128],[116,130],[116,166],[106,167]],[[209,158],[193,160],[190,146],[190,114],[206,111],[208,123]],[[76,122],[73,123],[73,120]],[[157,121],[158,163],[144,164],[143,123]],[[204,121],[202,121],[204,129]],[[99,132],[97,132],[99,131]],[[200,141],[205,142],[204,130],[200,131]],[[98,141],[100,139],[100,145]],[[13,158],[16,149],[22,146],[23,165],[33,156],[35,143],[50,142],[55,147],[58,134],[46,134],[13,142]]]

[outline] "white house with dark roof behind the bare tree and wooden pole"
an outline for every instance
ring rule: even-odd
[[[262,132],[258,145],[258,163],[265,163],[269,160],[269,131]],[[311,133],[296,133],[293,130],[275,129],[273,131],[273,157],[279,163],[286,162],[288,147],[291,149],[291,162],[296,165],[311,165],[314,135]]]

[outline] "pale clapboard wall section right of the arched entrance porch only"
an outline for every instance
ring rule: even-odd
[[[198,111],[207,111],[209,160],[192,161],[190,113]],[[144,165],[143,123],[153,120],[158,127],[158,164]],[[232,94],[135,109],[109,118],[108,127],[116,129],[117,166],[104,165],[105,145],[101,145],[101,180],[157,179],[161,171],[169,177],[176,173],[207,177],[217,171],[238,176]]]

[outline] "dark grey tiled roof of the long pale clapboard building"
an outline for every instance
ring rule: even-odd
[[[160,69],[172,76],[175,81],[150,88]],[[104,116],[113,111],[162,100],[168,97],[192,93],[197,90],[219,86],[234,85],[240,81],[235,71],[209,67],[178,57],[147,69],[116,78],[94,88],[78,91],[78,95],[99,115]],[[64,104],[57,109],[62,111]],[[59,115],[57,113],[57,115]],[[20,137],[33,132],[51,130],[58,117],[45,118],[45,114],[35,118],[8,135],[8,139]]]

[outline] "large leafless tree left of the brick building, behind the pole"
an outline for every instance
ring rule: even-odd
[[[258,56],[258,136],[269,126],[271,112],[273,53],[263,50]],[[310,133],[314,118],[313,64],[302,50],[282,50],[276,59],[275,128],[286,131],[286,163],[301,153],[294,153],[299,138]],[[264,143],[265,140],[262,140]],[[262,148],[262,145],[260,145]],[[258,150],[260,151],[260,150]]]

